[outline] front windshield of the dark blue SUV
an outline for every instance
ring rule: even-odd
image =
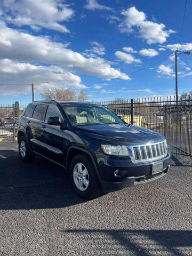
[[[69,121],[73,125],[124,123],[110,110],[100,106],[61,104]]]

